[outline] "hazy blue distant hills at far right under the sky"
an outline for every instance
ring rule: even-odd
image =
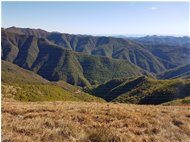
[[[189,64],[190,38],[173,36],[145,36],[134,39],[151,52],[166,69]]]

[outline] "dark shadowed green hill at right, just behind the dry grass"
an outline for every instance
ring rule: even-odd
[[[190,96],[189,80],[155,80],[131,77],[110,80],[92,88],[91,94],[107,101],[134,104],[162,104]]]

